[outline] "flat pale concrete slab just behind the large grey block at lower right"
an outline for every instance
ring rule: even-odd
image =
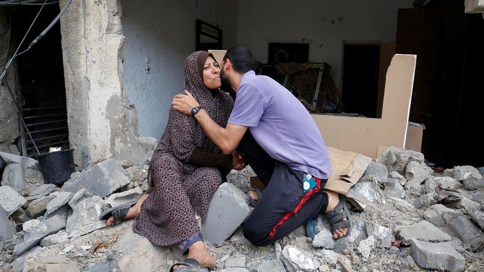
[[[425,242],[446,242],[452,240],[449,234],[444,233],[430,222],[422,220],[409,226],[395,229],[404,245],[410,245],[412,239]]]

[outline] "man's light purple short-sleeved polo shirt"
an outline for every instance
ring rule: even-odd
[[[326,179],[332,172],[321,133],[303,104],[270,77],[245,73],[229,123],[248,126],[273,159]]]

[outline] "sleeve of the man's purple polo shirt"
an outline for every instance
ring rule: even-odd
[[[259,90],[250,84],[240,86],[229,123],[242,126],[257,126],[267,108]]]

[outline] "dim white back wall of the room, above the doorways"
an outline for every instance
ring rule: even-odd
[[[252,50],[257,60],[267,63],[269,41],[310,42],[309,60],[329,63],[340,91],[343,41],[393,41],[397,10],[412,7],[412,2],[243,0],[239,1],[238,43]]]

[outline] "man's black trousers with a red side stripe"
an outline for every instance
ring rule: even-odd
[[[326,179],[317,179],[312,192],[303,190],[304,172],[274,160],[257,144],[249,131],[237,151],[266,186],[257,206],[244,223],[243,235],[255,246],[266,246],[314,218],[328,206],[323,192]]]

